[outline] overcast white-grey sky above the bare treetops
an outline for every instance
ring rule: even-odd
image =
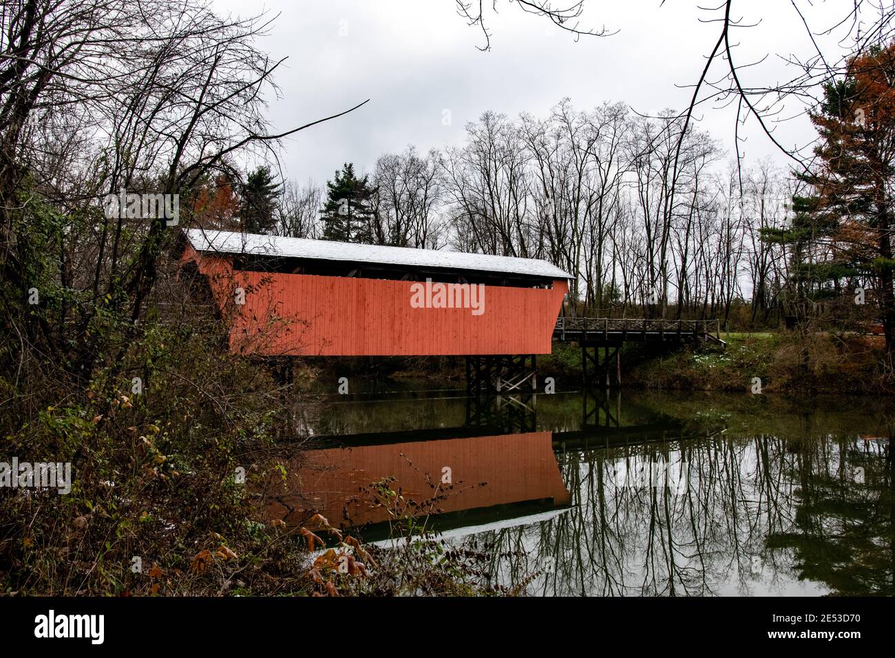
[[[851,4],[797,2],[814,30],[831,27]],[[491,50],[480,52],[482,32],[457,15],[454,0],[214,4],[243,16],[262,9],[280,14],[259,42],[273,57],[288,56],[276,76],[281,98],[272,98],[269,107],[274,131],[371,99],[351,115],[286,141],[281,160],[286,177],[318,184],[345,161],[369,173],[381,154],[408,144],[425,151],[462,142],[466,122],[489,109],[510,116],[523,111],[545,115],[563,97],[572,98],[577,108],[624,101],[644,114],[685,107],[692,90],[680,85],[698,79],[720,29],[718,23],[700,22],[717,14],[700,11],[691,0],[667,0],[664,6],[659,0],[586,0],[582,24],[605,24],[618,33],[576,43],[547,19],[524,13],[510,0],[497,0],[499,13],[489,9],[486,14]],[[811,41],[788,0],[743,0],[734,13],[744,23],[761,21],[738,31],[735,57],[746,63],[771,53],[762,66],[744,71],[748,81],[771,84],[787,78],[792,72],[775,54],[811,54]],[[450,112],[449,125],[442,122],[444,110]],[[706,107],[698,115],[699,127],[732,150],[731,111]],[[777,130],[787,145],[804,144],[814,135],[804,117]],[[754,121],[743,134],[747,160],[771,154],[785,163]]]

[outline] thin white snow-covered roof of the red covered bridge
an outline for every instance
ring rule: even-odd
[[[567,272],[547,261],[531,258],[233,233],[219,231],[216,228],[191,228],[185,233],[192,248],[197,252],[246,253],[315,261],[345,261],[408,268],[465,269],[526,277],[572,278]]]

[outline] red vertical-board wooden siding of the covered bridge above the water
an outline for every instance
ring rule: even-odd
[[[413,282],[232,271],[225,258],[187,247],[226,317],[230,349],[263,355],[549,354],[567,282],[484,286],[484,312],[413,308]],[[234,305],[234,290],[245,304]]]

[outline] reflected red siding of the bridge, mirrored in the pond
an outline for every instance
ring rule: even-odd
[[[301,466],[287,469],[286,483],[277,485],[287,493],[281,491],[280,501],[268,503],[266,517],[300,522],[318,512],[333,525],[346,526],[346,508],[353,526],[387,521],[388,510],[372,505],[368,495],[358,496],[359,491],[394,476],[393,490],[400,487],[406,499],[423,503],[433,494],[426,475],[431,483],[439,483],[444,466],[451,469],[454,488],[438,503],[442,512],[531,500],[567,505],[569,493],[553,453],[552,436],[553,432],[528,432],[311,450],[304,454]],[[447,490],[447,485],[441,486]],[[290,514],[284,503],[296,511]]]

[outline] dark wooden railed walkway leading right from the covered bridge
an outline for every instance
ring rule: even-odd
[[[727,345],[720,337],[720,320],[648,320],[560,316],[553,329],[553,339],[560,342],[592,345],[666,340],[705,340],[721,346]]]

